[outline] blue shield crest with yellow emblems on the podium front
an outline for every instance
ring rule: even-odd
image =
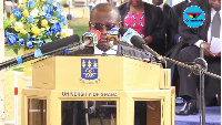
[[[98,59],[81,59],[81,77],[84,80],[98,79]]]

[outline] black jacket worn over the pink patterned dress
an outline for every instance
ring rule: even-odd
[[[121,20],[124,21],[127,13],[130,10],[130,3],[123,3],[119,7]],[[163,12],[153,4],[144,2],[145,13],[145,37],[151,35],[153,42],[149,44],[154,51],[160,54],[164,53],[165,46],[165,29],[163,24]]]

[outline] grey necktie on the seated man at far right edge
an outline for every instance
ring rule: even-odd
[[[219,11],[213,17],[212,28],[211,28],[211,40],[212,38],[220,38],[220,30],[221,30],[221,18]]]

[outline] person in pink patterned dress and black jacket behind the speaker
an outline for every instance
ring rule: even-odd
[[[165,52],[165,29],[162,11],[142,0],[129,0],[119,7],[122,25],[135,30],[159,54]]]

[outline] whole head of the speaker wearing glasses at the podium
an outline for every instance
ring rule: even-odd
[[[98,41],[97,48],[103,52],[108,51],[112,45],[108,41],[108,32],[115,27],[121,27],[119,10],[110,3],[97,4],[91,14],[89,22],[90,30],[99,30],[101,39]]]

